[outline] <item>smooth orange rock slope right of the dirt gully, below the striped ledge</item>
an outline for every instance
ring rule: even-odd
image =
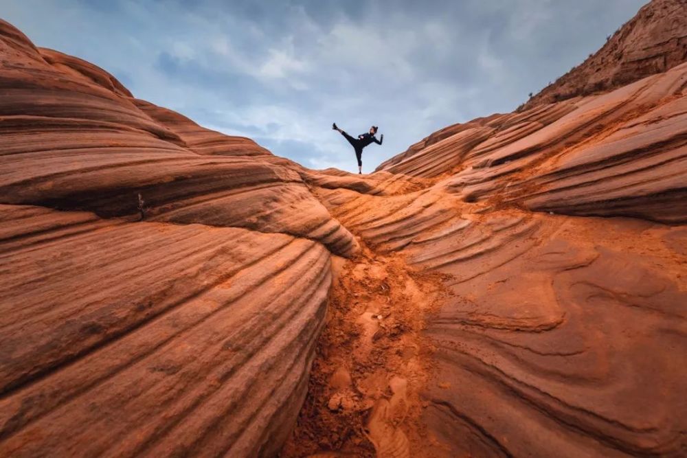
[[[684,455],[684,226],[499,211],[436,187],[333,211],[449,275],[427,325],[431,456]]]

